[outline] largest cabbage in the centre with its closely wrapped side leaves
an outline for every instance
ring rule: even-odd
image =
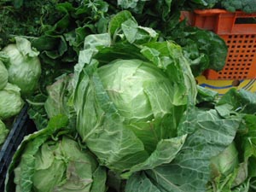
[[[79,135],[103,165],[123,177],[171,162],[186,139],[177,125],[195,95],[195,80],[177,45],[156,46],[170,46],[177,63],[171,54],[166,69],[138,58],[99,67],[92,61],[75,88]]]

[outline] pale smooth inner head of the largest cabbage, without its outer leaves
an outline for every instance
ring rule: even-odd
[[[161,138],[176,135],[175,127],[165,122],[175,108],[175,90],[166,73],[145,61],[119,60],[99,67],[98,74],[125,128],[140,138],[148,153]]]

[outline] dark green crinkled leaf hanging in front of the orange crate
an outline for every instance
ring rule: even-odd
[[[181,22],[171,34],[170,38],[183,47],[195,77],[207,68],[219,71],[224,67],[228,48],[214,32],[184,26]]]

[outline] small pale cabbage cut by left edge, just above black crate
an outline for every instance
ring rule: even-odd
[[[20,113],[24,102],[17,85],[8,83],[3,90],[0,90],[0,98],[0,119],[9,119]]]

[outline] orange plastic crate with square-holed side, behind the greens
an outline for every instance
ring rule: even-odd
[[[256,78],[256,13],[204,9],[183,12],[182,15],[189,25],[215,32],[228,46],[224,68],[220,72],[207,70],[204,73],[207,79]]]

